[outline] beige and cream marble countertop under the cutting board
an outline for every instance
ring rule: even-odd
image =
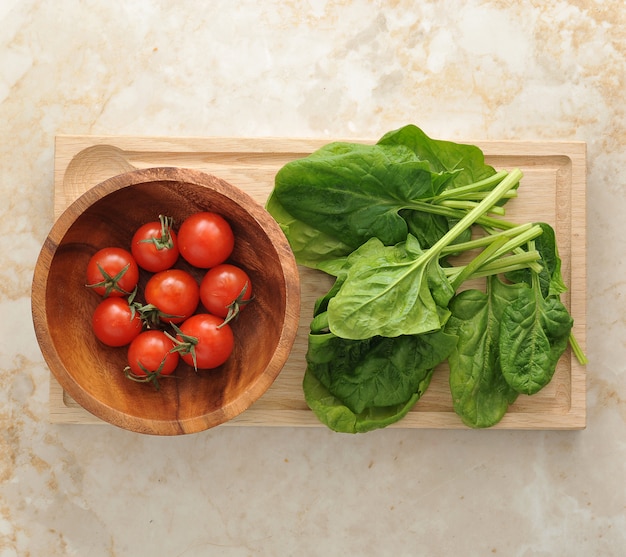
[[[621,0],[0,3],[0,556],[626,551]],[[578,140],[582,431],[51,424],[30,285],[54,137]]]

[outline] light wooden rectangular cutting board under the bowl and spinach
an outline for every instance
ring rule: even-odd
[[[355,140],[351,140],[355,141]],[[369,143],[370,141],[363,141]],[[276,172],[328,143],[319,139],[165,138],[58,136],[55,143],[54,212],[63,210],[97,183],[136,168],[195,168],[231,182],[260,203]],[[575,320],[574,334],[586,341],[586,146],[582,142],[468,141],[497,169],[520,168],[519,197],[506,205],[507,220],[544,221],[556,229],[563,296]],[[321,426],[302,394],[309,321],[315,299],[329,288],[329,277],[301,267],[302,317],[290,358],[272,387],[229,425]],[[426,394],[391,427],[464,428],[452,409],[447,366],[436,370]],[[50,377],[50,421],[103,423],[88,413]],[[568,349],[552,382],[538,394],[522,396],[496,429],[581,429],[586,424],[585,367]]]

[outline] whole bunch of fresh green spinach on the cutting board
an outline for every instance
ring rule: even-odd
[[[551,228],[502,219],[521,177],[416,126],[375,145],[331,143],[278,172],[268,211],[298,263],[335,277],[315,306],[303,380],[328,427],[398,421],[446,359],[455,411],[473,427],[550,380],[571,318]],[[457,293],[481,276],[486,293]]]

